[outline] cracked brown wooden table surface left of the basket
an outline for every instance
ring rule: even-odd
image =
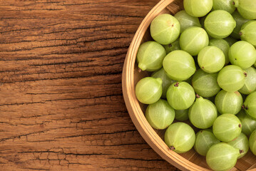
[[[0,170],[177,170],[141,138],[121,90],[156,3],[0,1]]]

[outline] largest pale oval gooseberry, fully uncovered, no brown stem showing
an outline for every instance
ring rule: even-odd
[[[163,68],[171,79],[185,81],[195,73],[195,61],[189,53],[176,50],[165,56]]]

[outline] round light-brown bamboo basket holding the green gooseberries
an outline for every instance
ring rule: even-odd
[[[128,49],[126,61],[123,66],[123,97],[135,127],[158,155],[170,162],[171,165],[178,167],[180,170],[206,171],[210,170],[210,167],[206,164],[205,157],[198,155],[194,149],[183,154],[177,154],[165,145],[165,142],[163,141],[165,130],[154,130],[149,125],[144,115],[147,105],[138,102],[135,97],[136,83],[141,78],[150,75],[148,72],[138,71],[135,58],[140,44],[152,40],[148,29],[151,21],[159,14],[167,13],[174,15],[182,9],[183,0],[162,0],[148,13],[147,16],[145,16],[145,19],[142,21],[133,37],[133,41],[130,43],[130,48]],[[248,152],[245,157],[237,160],[237,165],[232,168],[232,171],[235,170],[256,170],[256,156],[253,155],[252,152]]]

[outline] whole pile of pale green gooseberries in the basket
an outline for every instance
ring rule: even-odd
[[[256,0],[184,0],[150,24],[135,86],[145,118],[170,150],[193,147],[213,170],[256,155]],[[195,133],[195,130],[197,133]],[[225,162],[223,162],[225,161]]]

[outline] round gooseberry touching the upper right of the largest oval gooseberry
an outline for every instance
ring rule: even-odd
[[[192,26],[180,35],[180,48],[192,56],[197,56],[202,48],[208,46],[209,37],[205,29]]]

